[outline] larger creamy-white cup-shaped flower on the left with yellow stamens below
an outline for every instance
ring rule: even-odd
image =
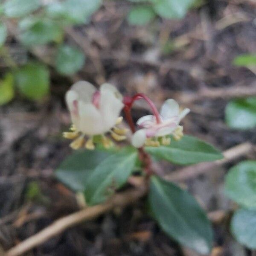
[[[87,81],[73,84],[66,93],[67,107],[73,125],[70,132],[63,136],[75,139],[70,146],[73,149],[85,146],[94,149],[94,136],[100,135],[102,144],[109,148],[113,143],[105,136],[110,132],[115,140],[124,140],[125,130],[116,127],[122,122],[119,114],[123,108],[122,95],[111,84],[102,84],[99,90]],[[85,136],[88,137],[87,141]]]

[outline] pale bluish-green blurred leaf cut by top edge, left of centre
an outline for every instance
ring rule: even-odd
[[[87,22],[101,5],[102,0],[66,0],[50,4],[47,8],[47,15],[71,24],[82,24]]]

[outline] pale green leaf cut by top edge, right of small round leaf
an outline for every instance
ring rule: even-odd
[[[153,9],[163,18],[183,18],[194,0],[150,0]]]

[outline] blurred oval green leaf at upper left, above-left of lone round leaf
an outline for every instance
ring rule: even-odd
[[[29,26],[29,24],[26,24]],[[23,24],[23,27],[25,25]],[[21,42],[26,46],[47,44],[51,41],[60,41],[63,30],[54,20],[43,19],[31,22],[31,26],[20,35]]]

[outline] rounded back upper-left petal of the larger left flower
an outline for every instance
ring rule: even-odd
[[[96,92],[96,88],[87,81],[76,82],[70,90],[75,91],[78,94],[78,100],[83,102],[92,102],[93,93]]]

